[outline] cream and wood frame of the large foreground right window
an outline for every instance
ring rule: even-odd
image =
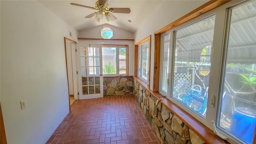
[[[197,120],[199,120],[200,122],[202,122],[205,126],[207,126],[208,128],[210,128],[211,130],[214,130],[213,126],[212,126],[212,122],[211,120],[215,120],[217,122],[217,111],[218,111],[218,105],[219,105],[219,100],[221,98],[221,92],[220,92],[220,85],[221,85],[221,81],[220,81],[220,78],[221,78],[221,70],[222,70],[222,63],[223,63],[223,59],[222,59],[222,56],[225,54],[223,51],[224,51],[224,48],[223,48],[223,45],[224,45],[224,36],[226,35],[226,33],[224,33],[225,31],[225,26],[226,26],[226,14],[227,14],[227,9],[230,8],[230,7],[233,7],[233,6],[236,6],[237,4],[240,4],[241,1],[231,1],[231,2],[228,2],[227,4],[222,4],[222,6],[218,7],[218,8],[214,8],[214,9],[211,9],[209,12],[205,12],[204,14],[196,17],[196,18],[191,18],[189,21],[187,22],[184,22],[182,24],[179,24],[178,26],[175,26],[175,28],[170,28],[169,30],[165,30],[166,28],[163,28],[161,30],[159,30],[158,32],[155,33],[155,48],[160,48],[160,50],[156,50],[155,49],[155,60],[156,60],[156,57],[158,57],[157,54],[160,54],[160,58],[159,58],[159,61],[158,62],[162,62],[162,36],[164,36],[165,34],[167,34],[168,32],[171,33],[170,37],[170,41],[172,41],[172,44],[170,44],[170,49],[171,49],[171,54],[170,54],[170,60],[174,60],[174,57],[172,57],[172,54],[174,54],[174,46],[173,46],[173,40],[174,40],[174,36],[173,36],[173,31],[174,30],[178,30],[179,28],[182,28],[184,26],[187,26],[189,24],[192,24],[193,22],[196,22],[198,20],[201,20],[203,18],[206,18],[212,14],[216,14],[216,21],[215,21],[215,26],[214,26],[214,40],[213,41],[218,41],[219,44],[216,44],[217,42],[214,42],[213,44],[213,47],[212,47],[212,56],[214,56],[214,60],[216,60],[216,62],[212,63],[212,68],[211,68],[211,71],[212,73],[214,72],[217,72],[217,74],[215,74],[214,78],[216,78],[217,80],[215,82],[212,82],[211,85],[209,84],[209,87],[210,86],[214,86],[215,88],[212,88],[211,90],[209,90],[209,94],[208,94],[208,107],[210,110],[208,110],[208,114],[206,115],[206,118],[205,120],[203,118],[201,118],[200,116],[198,117],[196,114],[194,114],[194,112],[192,112],[190,109],[187,109],[187,108],[183,108],[182,105],[179,104],[179,102],[176,100],[174,100],[173,98],[169,98],[172,102],[176,103],[178,106],[180,106],[182,109],[184,109],[185,111],[188,111],[193,117],[195,117]],[[183,18],[183,17],[182,17]],[[221,22],[220,22],[221,20]],[[174,25],[174,24],[172,24]],[[167,26],[166,26],[167,27]],[[162,32],[163,30],[165,30],[164,32]],[[218,47],[220,47],[218,49]],[[215,48],[215,49],[214,49]],[[219,54],[219,56],[217,56]],[[156,63],[156,62],[155,62]],[[173,63],[173,62],[170,62],[170,63]],[[162,65],[162,63],[160,64]],[[156,65],[154,65],[156,67]],[[215,69],[216,68],[216,69]],[[171,69],[171,73],[173,74],[174,72],[174,68],[173,66],[170,66],[170,69]],[[212,69],[215,69],[215,70],[212,70]],[[162,67],[158,68],[158,71],[154,72],[154,77],[155,76],[161,76],[161,70],[162,70]],[[160,74],[159,74],[159,73]],[[168,76],[169,78],[169,81],[172,82],[172,78],[170,76]],[[213,79],[213,78],[212,78]],[[213,80],[212,80],[213,81]],[[161,91],[161,80],[160,78],[157,79],[157,82],[156,82],[157,86],[159,86],[160,89],[158,89],[158,87],[156,86],[153,86],[153,91],[158,91],[158,92],[162,92]],[[167,93],[167,97],[170,96],[170,91],[172,91],[172,84],[170,84],[170,86],[168,87],[168,93]],[[215,99],[215,106],[214,108],[210,108],[210,100],[211,100],[211,97],[215,95],[216,96],[216,99]],[[207,108],[208,108],[207,107]],[[214,116],[208,118],[210,114],[213,114],[212,112],[214,112]],[[220,132],[220,128],[218,128],[218,131]],[[234,143],[234,142],[238,142],[237,140],[235,140],[234,138],[230,137],[228,134],[226,133],[223,133],[225,136],[228,136],[229,140],[228,142],[231,142],[231,143]],[[254,138],[255,138],[255,135],[254,134]]]

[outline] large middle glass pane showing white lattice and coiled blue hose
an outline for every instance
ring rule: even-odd
[[[173,97],[206,116],[215,16],[175,32]]]

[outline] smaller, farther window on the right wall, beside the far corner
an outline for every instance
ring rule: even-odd
[[[149,41],[138,45],[138,77],[149,83]]]

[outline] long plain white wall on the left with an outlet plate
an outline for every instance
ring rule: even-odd
[[[77,32],[37,1],[0,2],[7,141],[43,144],[69,112],[64,37],[77,41]],[[27,107],[21,110],[23,99]]]

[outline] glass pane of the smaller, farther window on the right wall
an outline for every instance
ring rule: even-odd
[[[142,78],[144,78],[145,80],[148,80],[148,49],[149,49],[148,42],[141,46],[141,53],[142,53],[141,75],[142,75]]]

